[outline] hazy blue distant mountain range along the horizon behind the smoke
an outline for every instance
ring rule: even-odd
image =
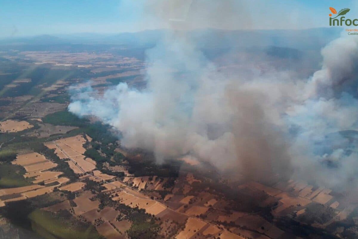
[[[289,47],[301,50],[317,49],[338,38],[342,28],[313,28],[304,30],[219,30],[200,29],[188,36],[203,48]],[[38,35],[35,37],[6,38],[0,40],[1,49],[24,46],[55,46],[72,44],[113,45],[147,48],[156,44],[168,30],[145,30],[136,33],[67,35]]]

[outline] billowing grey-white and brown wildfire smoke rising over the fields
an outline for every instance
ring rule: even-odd
[[[170,9],[188,11],[175,7],[179,1],[154,2],[150,9],[166,20]],[[342,134],[357,129],[356,38],[324,47],[322,68],[308,79],[260,72],[245,58],[238,63],[245,70],[219,71],[184,30],[195,19],[179,19],[176,10],[173,29],[147,51],[146,89],[120,83],[98,97],[88,85],[72,96],[69,111],[97,116],[121,131],[123,145],[153,151],[159,162],[190,155],[260,181],[280,175],[357,186],[354,140]]]

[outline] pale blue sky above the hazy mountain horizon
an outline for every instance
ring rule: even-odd
[[[203,2],[203,0],[199,1]],[[208,3],[215,1],[217,0],[207,0]],[[163,11],[163,9],[158,10],[159,2],[165,0],[0,0],[0,37],[83,32],[118,33],[165,28],[168,27],[166,21],[156,18],[158,11],[159,13]],[[245,15],[245,20],[237,18],[238,20],[232,21],[231,25],[225,25],[223,28],[328,27],[330,6],[338,11],[341,8],[351,8],[350,17],[358,18],[357,1],[351,0],[237,0],[234,2],[236,7],[233,12],[237,16]],[[215,14],[212,11],[213,9],[211,14]],[[203,22],[198,23],[196,27],[221,27],[220,24],[210,25]]]

